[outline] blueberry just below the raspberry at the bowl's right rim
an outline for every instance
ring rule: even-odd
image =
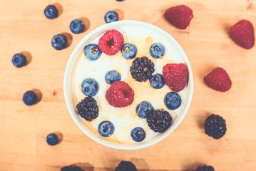
[[[180,107],[181,98],[176,92],[170,92],[165,95],[165,105],[168,109],[175,110]]]

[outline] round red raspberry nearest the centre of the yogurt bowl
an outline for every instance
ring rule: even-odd
[[[121,108],[133,103],[134,92],[124,81],[114,82],[106,92],[106,99],[110,105]]]

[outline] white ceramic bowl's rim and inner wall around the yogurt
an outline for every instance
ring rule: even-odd
[[[101,36],[104,32],[110,30],[110,29],[122,29],[126,27],[134,26],[135,28],[141,28],[145,29],[145,31],[150,31],[150,33],[158,33],[160,36],[163,36],[168,43],[170,43],[171,46],[175,49],[177,53],[179,53],[180,56],[182,56],[184,63],[188,66],[189,71],[189,82],[188,82],[188,93],[186,94],[186,98],[183,99],[183,109],[180,113],[178,113],[177,118],[173,121],[173,124],[166,130],[164,133],[159,133],[158,136],[151,138],[150,140],[146,142],[138,142],[134,144],[126,144],[126,143],[116,143],[108,141],[104,138],[98,138],[97,136],[93,135],[91,133],[91,130],[86,127],[86,125],[83,123],[83,118],[81,118],[76,113],[76,104],[73,102],[73,95],[71,90],[71,76],[73,71],[73,66],[76,61],[76,58],[78,58],[81,51],[83,51],[83,48],[91,43],[93,39],[95,39],[98,36]],[[134,30],[135,31],[135,30]],[[135,32],[134,32],[135,33]],[[166,58],[166,57],[165,57]],[[193,73],[190,67],[190,63],[188,61],[187,56],[185,55],[183,48],[180,47],[177,41],[170,36],[170,34],[166,33],[162,29],[153,26],[152,24],[147,24],[141,21],[115,21],[110,24],[105,24],[103,26],[100,26],[96,28],[95,30],[91,31],[91,33],[88,33],[76,46],[76,48],[71,53],[71,56],[68,60],[68,63],[66,65],[66,71],[64,75],[64,83],[63,83],[63,90],[64,90],[64,96],[66,100],[66,105],[68,107],[68,111],[73,118],[73,121],[78,125],[78,128],[80,128],[83,133],[85,133],[89,138],[92,140],[95,140],[96,142],[100,143],[101,145],[106,145],[107,147],[116,148],[119,150],[135,150],[140,149],[143,147],[148,147],[150,145],[154,145],[157,142],[160,142],[164,138],[166,138],[170,133],[175,130],[175,128],[178,127],[178,125],[181,123],[183,118],[185,117],[186,113],[188,113],[188,108],[190,107],[190,103],[193,96]]]

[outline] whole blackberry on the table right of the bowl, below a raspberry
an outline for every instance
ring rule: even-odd
[[[210,115],[205,120],[205,133],[215,139],[222,138],[226,133],[226,121],[219,115]]]

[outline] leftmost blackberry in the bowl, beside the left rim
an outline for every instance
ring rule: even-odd
[[[92,121],[98,117],[98,105],[94,98],[86,97],[76,105],[78,114],[88,121]]]

